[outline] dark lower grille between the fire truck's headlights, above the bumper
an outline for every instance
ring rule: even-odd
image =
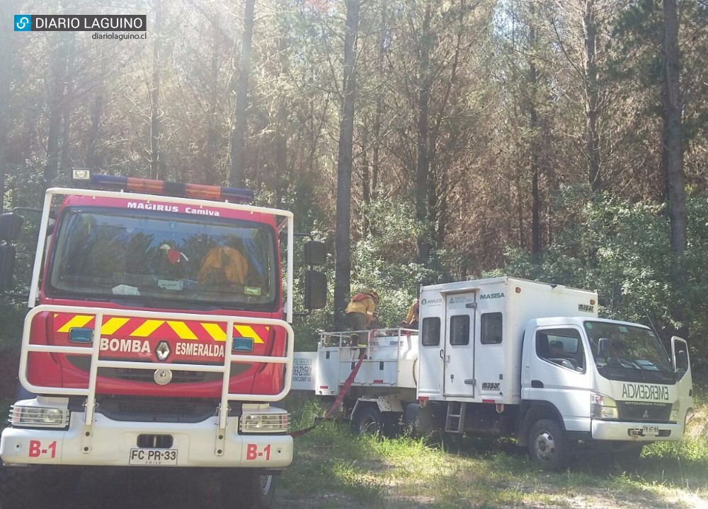
[[[217,414],[218,399],[101,396],[96,398],[96,411],[114,421],[195,423]],[[229,405],[232,411],[236,404]]]

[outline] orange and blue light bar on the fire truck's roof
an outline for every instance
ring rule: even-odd
[[[104,189],[106,191],[142,192],[172,197],[229,201],[239,204],[253,203],[253,191],[251,189],[238,189],[236,187],[183,184],[181,182],[120,177],[116,175],[91,175],[89,179],[79,177],[79,180],[89,180],[89,185],[92,189]]]

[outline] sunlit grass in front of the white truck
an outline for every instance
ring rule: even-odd
[[[297,402],[294,429],[321,407]],[[539,472],[510,443],[465,438],[428,445],[412,437],[357,437],[321,423],[295,439],[280,479],[282,508],[693,508],[708,506],[708,440],[645,447],[631,468],[583,457],[561,473]]]

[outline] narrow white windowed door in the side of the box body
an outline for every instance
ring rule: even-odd
[[[445,296],[445,396],[474,397],[476,293]]]

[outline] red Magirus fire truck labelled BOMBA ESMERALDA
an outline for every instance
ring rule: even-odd
[[[104,466],[210,467],[224,507],[267,508],[292,461],[289,414],[270,405],[292,375],[292,213],[244,189],[74,177],[42,209],[1,507],[55,505],[52,486]],[[20,228],[0,217],[0,286]],[[321,243],[304,251],[324,262]],[[304,282],[304,306],[323,307],[324,274]]]

